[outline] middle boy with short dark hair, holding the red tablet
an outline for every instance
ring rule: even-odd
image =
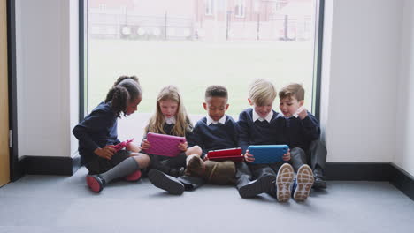
[[[209,86],[205,92],[203,108],[207,110],[207,116],[196,123],[193,130],[194,144],[202,148],[203,154],[188,156],[188,169],[204,168],[210,163],[217,163],[217,169],[211,170],[207,177],[218,175],[216,184],[239,183],[243,180],[249,182],[251,175],[249,168],[244,162],[203,162],[204,156],[210,150],[219,150],[238,147],[239,130],[238,124],[231,116],[227,116],[226,110],[228,94],[224,86]],[[219,171],[221,169],[221,171]],[[229,172],[230,171],[230,172]],[[233,172],[232,172],[233,171]],[[224,173],[221,173],[224,172]],[[202,172],[196,172],[198,174]],[[214,174],[221,173],[221,174]],[[214,178],[213,178],[214,179]],[[195,190],[206,182],[213,182],[211,179],[197,177],[196,174],[187,172],[183,177],[171,177],[160,171],[154,170],[149,174],[149,180],[158,188],[164,189],[171,194],[181,194],[184,190]],[[232,182],[229,182],[229,181]]]

